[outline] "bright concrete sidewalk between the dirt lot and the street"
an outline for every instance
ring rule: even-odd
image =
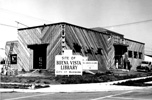
[[[152,77],[152,76],[148,76]],[[127,80],[144,79],[147,77],[133,78]],[[90,83],[90,84],[56,84],[49,85],[48,88],[41,89],[0,89],[0,92],[99,92],[99,91],[117,91],[117,90],[133,90],[143,89],[147,87],[136,86],[118,86],[113,85],[118,82],[125,82],[127,80],[104,82],[104,83]]]

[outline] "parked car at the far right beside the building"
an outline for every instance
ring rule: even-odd
[[[137,66],[136,70],[149,72],[152,70],[152,63],[148,61],[142,61],[141,64]]]

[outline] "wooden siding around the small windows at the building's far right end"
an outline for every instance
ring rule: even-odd
[[[144,43],[136,42],[133,40],[125,39],[125,43],[128,45],[128,51],[132,51],[132,57],[129,58],[129,61],[132,65],[132,69],[136,70],[136,67],[140,64],[142,60],[144,60]],[[142,59],[139,58],[139,55],[137,58],[134,58],[134,52],[141,52],[142,53]]]

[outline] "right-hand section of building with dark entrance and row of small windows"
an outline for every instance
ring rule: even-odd
[[[113,46],[115,52],[115,62],[118,61],[120,68],[128,69],[125,63],[130,63],[133,70],[144,60],[144,48],[145,43],[124,38],[124,35],[103,29],[103,28],[92,28],[99,32],[106,32],[113,38]]]

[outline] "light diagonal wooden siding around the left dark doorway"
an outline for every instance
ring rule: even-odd
[[[33,51],[27,48],[27,45],[49,43],[47,47],[47,69],[54,68],[55,55],[61,52],[61,28],[60,25],[44,26],[39,28],[31,28],[19,30],[19,47],[22,56],[22,64],[26,70],[33,68]],[[26,61],[26,59],[28,61]]]

